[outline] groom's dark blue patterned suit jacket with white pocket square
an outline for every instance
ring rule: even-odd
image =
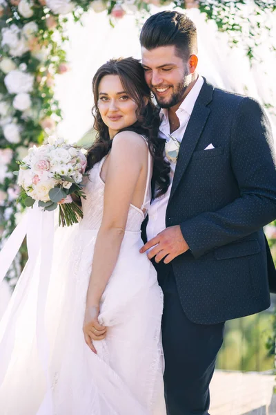
[[[204,150],[210,143],[214,149]],[[276,218],[276,160],[258,102],[204,80],[179,149],[166,226],[190,251],[172,268],[187,317],[214,324],[268,308],[275,267],[263,226]]]

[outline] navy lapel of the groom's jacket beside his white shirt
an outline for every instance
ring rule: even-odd
[[[213,89],[214,87],[204,80],[204,84],[201,88],[197,101],[195,102],[195,107],[190,116],[184,137],[181,141],[169,201],[172,199],[172,196],[181,181],[181,177],[188,167],[190,158],[193,156],[199,137],[201,136],[204,125],[206,124],[210,114],[210,109],[206,107],[206,105],[212,100]]]

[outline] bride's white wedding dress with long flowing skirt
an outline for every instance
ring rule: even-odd
[[[94,342],[97,355],[84,341],[105,159],[85,178],[81,222],[55,232],[50,273],[48,261],[41,266],[41,248],[32,264],[29,259],[1,320],[1,415],[166,414],[163,296],[155,268],[139,253],[143,210],[150,203],[149,153],[144,203],[140,209],[130,205],[117,264],[101,298],[99,322],[108,327],[106,339]],[[48,228],[43,232],[44,242]]]

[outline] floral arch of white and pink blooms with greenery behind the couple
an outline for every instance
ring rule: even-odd
[[[251,62],[264,33],[269,38],[268,17],[276,14],[276,0],[0,0],[0,238],[10,234],[23,209],[15,160],[54,133],[62,118],[54,86],[55,76],[68,71],[68,17],[81,21],[92,8],[105,11],[114,26],[128,13],[143,19],[152,5],[198,8],[233,46],[246,49]]]

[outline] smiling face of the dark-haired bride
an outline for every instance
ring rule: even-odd
[[[103,122],[108,126],[110,138],[137,121],[138,106],[124,91],[118,75],[101,78],[97,106]]]

